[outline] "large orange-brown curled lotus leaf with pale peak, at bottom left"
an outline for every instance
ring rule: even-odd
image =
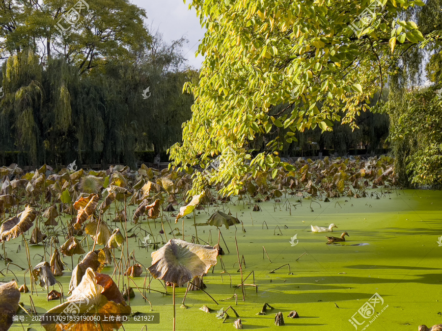
[[[75,305],[74,305],[75,304]],[[68,313],[78,315],[83,313],[104,315],[110,320],[111,315],[128,315],[131,307],[126,304],[118,287],[110,276],[94,273],[87,268],[82,281],[72,290],[72,295],[61,305],[48,310],[46,315]],[[103,318],[104,319],[104,318]],[[43,320],[48,320],[43,318]],[[111,331],[121,328],[121,322],[97,323],[92,321],[72,321],[66,324],[42,322],[46,331]]]

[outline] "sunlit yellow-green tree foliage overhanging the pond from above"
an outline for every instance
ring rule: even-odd
[[[224,158],[224,194],[237,194],[244,174],[279,164],[278,151],[296,130],[332,121],[354,125],[386,86],[398,59],[425,38],[407,12],[420,0],[193,0],[207,32],[192,119],[170,153],[184,168]],[[367,8],[370,9],[367,12]],[[370,14],[367,16],[367,13]],[[254,142],[266,133],[276,138]],[[249,159],[250,162],[247,162]],[[290,170],[290,165],[284,167]],[[274,176],[276,170],[274,171]],[[203,182],[195,174],[195,187]]]

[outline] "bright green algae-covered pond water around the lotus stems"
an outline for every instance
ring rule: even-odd
[[[211,270],[204,277],[205,290],[219,305],[202,291],[192,291],[185,301],[187,309],[180,308],[186,288],[176,289],[177,330],[235,330],[233,322],[236,317],[232,310],[227,310],[229,318],[225,321],[217,318],[217,312],[228,306],[239,314],[245,330],[415,331],[421,324],[431,327],[442,323],[442,192],[397,190],[383,194],[380,199],[341,197],[330,202],[305,199],[302,204],[297,203],[299,199],[283,196],[280,203],[274,200],[262,202],[259,203],[260,211],[252,211],[253,203],[250,207],[235,198],[234,202],[206,206],[205,210],[198,211],[196,223],[206,222],[215,210],[230,210],[243,222],[245,231],[241,224],[236,228],[221,229],[230,253],[221,239],[225,252],[222,255],[224,268],[218,259],[213,272]],[[178,226],[181,229],[181,220],[177,225],[174,217],[168,216],[168,220],[172,228]],[[147,221],[143,222],[141,228],[149,230]],[[310,225],[328,227],[331,223],[338,227],[331,234],[311,232]],[[111,225],[112,228],[117,226]],[[159,233],[160,223],[151,221],[150,226],[154,233]],[[127,227],[134,226],[128,224]],[[170,239],[172,235],[167,229],[168,226],[166,235]],[[209,241],[210,232],[212,245],[218,241],[218,231],[214,227],[198,226],[197,231],[198,237],[204,241]],[[344,243],[326,245],[325,235],[339,237],[344,231],[350,235]],[[245,301],[242,289],[236,287],[241,284],[241,275],[235,232],[239,256],[244,255],[244,278],[253,272],[246,283],[257,285],[257,291],[254,286],[246,286]],[[148,267],[152,247],[140,246],[142,230],[134,229],[132,233],[137,237],[129,238],[129,252],[134,251],[137,261]],[[191,240],[194,233],[193,217],[185,218],[186,240]],[[157,238],[160,246],[161,238],[166,241],[164,234]],[[61,244],[63,238],[60,236],[59,240]],[[13,263],[26,267],[23,247],[17,253],[19,245],[19,238],[6,243],[6,254]],[[29,249],[34,258],[33,265],[36,265],[41,261],[39,255],[43,255],[43,245],[33,245]],[[71,268],[69,257],[64,257],[63,261]],[[74,264],[76,262],[74,259]],[[10,265],[9,269],[15,276],[3,269],[4,276],[0,274],[0,281],[18,279],[19,286],[23,284],[23,271],[14,265]],[[221,274],[223,270],[226,273]],[[107,274],[112,272],[113,266],[102,271]],[[138,287],[143,287],[145,276],[143,272],[141,277],[134,278]],[[65,270],[63,276],[56,278],[65,292],[70,277],[71,271]],[[117,279],[114,277],[114,280]],[[121,275],[120,289],[122,282]],[[151,310],[135,286],[130,285],[135,289],[135,298],[130,301],[132,311],[147,315],[158,313],[160,323],[124,324],[124,330],[171,330],[172,297],[147,291],[146,298],[153,307]],[[58,285],[54,288],[59,290]],[[151,288],[165,291],[159,280],[152,280]],[[46,290],[38,288],[38,291],[38,296],[34,293],[32,299],[39,313],[59,304],[59,301],[46,301]],[[167,291],[171,293],[171,287]],[[30,307],[29,294],[21,296],[26,308]],[[234,294],[237,294],[237,304],[232,298]],[[265,303],[273,309],[267,308],[265,315],[258,315]],[[206,313],[200,310],[204,305],[213,311]],[[300,318],[287,317],[292,310],[296,310]],[[282,312],[285,326],[275,325],[278,312]],[[43,330],[38,324],[24,324],[22,327],[20,323],[14,323],[10,330],[28,328]]]

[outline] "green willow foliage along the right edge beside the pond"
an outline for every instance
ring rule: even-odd
[[[427,0],[402,17],[412,18],[426,38],[419,47],[408,45],[404,56],[392,61],[384,111],[390,117],[395,171],[404,186],[441,185],[442,1]],[[422,76],[432,85],[423,87]]]

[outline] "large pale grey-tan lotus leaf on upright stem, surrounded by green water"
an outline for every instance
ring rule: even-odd
[[[152,265],[148,268],[154,278],[177,286],[204,276],[217,264],[218,250],[208,245],[170,239],[166,245],[152,253]]]

